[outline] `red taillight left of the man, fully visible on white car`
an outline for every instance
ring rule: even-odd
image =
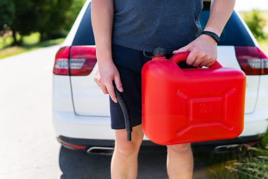
[[[56,54],[53,73],[55,75],[89,75],[96,64],[94,46],[63,47]]]

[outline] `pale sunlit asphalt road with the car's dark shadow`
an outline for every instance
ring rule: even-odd
[[[110,178],[110,155],[69,150],[52,125],[52,68],[59,46],[0,59],[0,178]],[[138,178],[167,178],[164,151],[139,155]],[[208,178],[196,159],[194,178]]]

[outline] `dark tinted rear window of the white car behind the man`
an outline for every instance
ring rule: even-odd
[[[204,2],[204,8],[200,14],[200,23],[202,28],[207,23],[209,17],[209,3]],[[88,46],[94,45],[94,36],[91,25],[91,3],[89,4],[84,17],[82,18],[81,24],[78,28],[77,34],[74,38],[72,45],[74,46]],[[218,43],[219,46],[255,46],[251,36],[243,26],[241,20],[235,12],[232,13],[228,20],[221,40]]]

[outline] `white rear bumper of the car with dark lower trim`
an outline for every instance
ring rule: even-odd
[[[266,113],[268,113],[266,111]],[[229,145],[251,143],[261,139],[267,129],[265,111],[245,115],[242,134],[235,139],[194,143],[193,145]],[[266,118],[267,119],[267,118]],[[85,146],[113,146],[114,131],[110,128],[110,117],[79,116],[72,112],[53,112],[53,125],[59,141]],[[144,137],[145,146],[156,144]]]

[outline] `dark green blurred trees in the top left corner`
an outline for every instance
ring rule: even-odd
[[[85,1],[1,0],[0,36],[12,32],[14,45],[33,32],[40,33],[41,41],[65,37]]]

